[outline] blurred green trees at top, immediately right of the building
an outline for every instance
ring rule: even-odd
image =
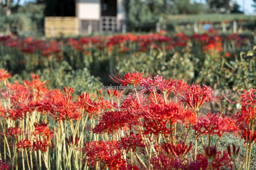
[[[155,26],[163,15],[199,14],[204,12],[202,3],[189,0],[127,0],[125,1],[127,21],[130,28]]]

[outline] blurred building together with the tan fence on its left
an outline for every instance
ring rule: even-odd
[[[45,35],[67,36],[126,30],[124,0],[77,0],[76,17],[45,17]]]

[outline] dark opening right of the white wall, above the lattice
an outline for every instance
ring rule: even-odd
[[[116,17],[117,3],[116,0],[101,0],[101,16]]]

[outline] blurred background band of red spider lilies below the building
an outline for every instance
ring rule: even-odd
[[[152,55],[152,51],[159,51],[163,61],[167,61],[167,53],[181,51],[193,44],[201,54],[210,58],[218,58],[223,50],[224,56],[230,57],[230,53],[236,48],[247,47],[250,44],[248,38],[242,38],[239,34],[231,34],[221,37],[217,32],[209,30],[204,34],[186,36],[177,33],[174,36],[166,33],[137,34],[132,33],[112,36],[91,36],[77,39],[66,38],[62,40],[40,40],[32,37],[0,36],[0,55],[9,54],[8,60],[11,69],[48,68],[54,62],[69,61],[73,68],[88,67],[84,61],[87,58],[90,64],[97,64],[101,60],[113,64],[122,59],[122,56],[130,54],[130,59],[137,53]],[[195,47],[194,47],[195,48]],[[228,49],[228,51],[226,50]],[[111,57],[116,55],[116,59]],[[14,62],[17,61],[18,62]],[[95,66],[98,67],[98,66]],[[106,70],[112,72],[112,68]],[[100,68],[99,68],[100,69]],[[94,69],[92,69],[94,70]],[[94,70],[96,71],[96,70]]]

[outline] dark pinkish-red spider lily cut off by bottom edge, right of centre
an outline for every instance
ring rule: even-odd
[[[157,170],[180,169],[183,167],[181,160],[173,158],[169,155],[159,154],[157,157],[153,157],[150,161],[153,165],[153,169]]]

